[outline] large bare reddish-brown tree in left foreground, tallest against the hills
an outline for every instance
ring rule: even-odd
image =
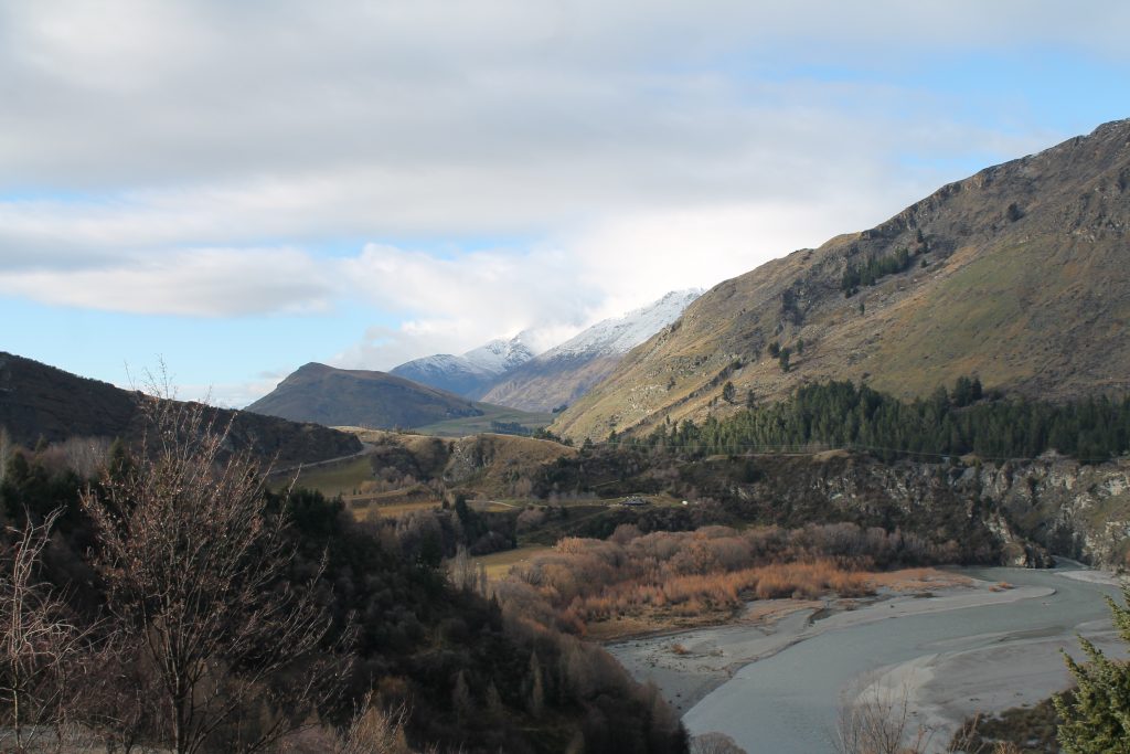
[[[172,749],[201,752],[224,735],[226,749],[255,751],[333,685],[329,667],[280,677],[318,655],[329,618],[313,583],[288,587],[287,519],[268,511],[262,469],[231,451],[216,413],[159,398],[148,410],[139,457],[82,495],[95,565],[110,610],[153,664]]]

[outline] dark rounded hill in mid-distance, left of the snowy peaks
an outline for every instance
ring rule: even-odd
[[[310,363],[249,411],[325,426],[414,427],[483,411],[469,400],[410,380]]]

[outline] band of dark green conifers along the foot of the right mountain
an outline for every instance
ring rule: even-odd
[[[725,418],[660,424],[640,443],[697,454],[827,445],[885,460],[966,453],[1006,460],[1054,450],[1101,462],[1130,450],[1130,397],[1063,404],[985,397],[980,380],[963,376],[953,389],[902,401],[866,384],[832,381]]]

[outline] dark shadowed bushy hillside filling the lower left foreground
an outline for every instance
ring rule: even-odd
[[[55,445],[0,469],[0,748],[687,751],[658,692],[550,610],[449,578],[496,520],[356,522],[224,460],[205,408],[153,405],[162,442],[93,473]]]

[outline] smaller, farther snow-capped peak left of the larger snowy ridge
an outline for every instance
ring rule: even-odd
[[[481,398],[506,372],[533,358],[533,352],[522,343],[524,333],[510,340],[495,339],[462,356],[436,354],[397,366],[392,375],[446,390],[466,398]]]

